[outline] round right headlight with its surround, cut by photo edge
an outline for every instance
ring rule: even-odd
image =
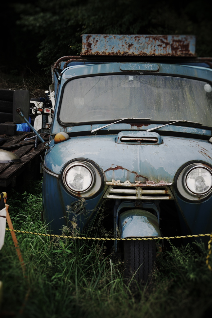
[[[212,193],[212,168],[203,163],[189,164],[179,173],[176,185],[186,199],[204,199]]]

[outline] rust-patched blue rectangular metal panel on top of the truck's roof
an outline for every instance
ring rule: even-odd
[[[195,36],[83,34],[80,55],[195,57]]]

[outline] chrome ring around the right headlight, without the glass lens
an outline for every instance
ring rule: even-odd
[[[212,194],[212,185],[207,191],[204,191],[203,193],[195,193],[191,191],[188,188],[187,185],[187,178],[189,173],[197,168],[206,169],[212,177],[212,167],[209,166],[209,164],[205,164],[202,162],[192,162],[190,164],[187,164],[183,168],[181,168],[180,172],[177,173],[176,176],[176,188],[179,192],[179,194],[186,200],[189,201],[203,201],[206,198],[208,198]]]

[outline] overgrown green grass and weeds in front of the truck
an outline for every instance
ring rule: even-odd
[[[8,200],[15,229],[45,233],[40,221],[41,185]],[[17,234],[25,276],[9,232],[0,251],[1,317],[208,317],[212,273],[203,243],[188,243],[157,257],[146,286],[122,277],[123,264],[105,254],[103,242]],[[189,242],[189,241],[188,241]],[[193,248],[195,247],[195,248]]]

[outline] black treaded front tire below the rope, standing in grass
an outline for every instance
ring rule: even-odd
[[[147,282],[156,259],[156,247],[153,240],[124,241],[125,278]]]

